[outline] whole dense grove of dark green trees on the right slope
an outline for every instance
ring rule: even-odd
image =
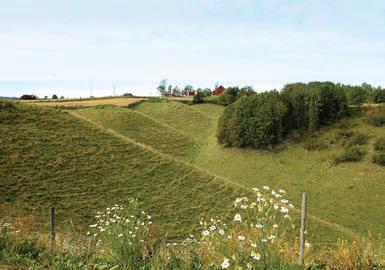
[[[348,98],[332,82],[286,85],[238,95],[218,120],[217,139],[225,146],[265,148],[277,145],[292,130],[313,132],[348,113]]]

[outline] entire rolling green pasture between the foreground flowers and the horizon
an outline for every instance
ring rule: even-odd
[[[126,107],[57,110],[18,104],[0,111],[2,216],[31,217],[47,225],[57,206],[59,224],[82,225],[95,212],[137,197],[162,232],[179,236],[202,215],[225,214],[246,188],[284,188],[296,206],[309,193],[310,232],[333,240],[385,234],[385,169],[371,163],[372,141],[384,128],[349,119],[368,136],[369,154],[333,165],[342,150],[334,127],[321,131],[329,147],[308,151],[304,142],[280,151],[223,148],[216,121],[223,107],[146,101]],[[10,211],[11,210],[11,211]]]

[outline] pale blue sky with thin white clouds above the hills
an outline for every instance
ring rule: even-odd
[[[385,86],[385,1],[0,0],[0,96]]]

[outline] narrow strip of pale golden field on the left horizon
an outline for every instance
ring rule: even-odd
[[[127,106],[132,103],[143,100],[144,98],[129,98],[129,97],[118,97],[118,98],[98,98],[98,99],[84,99],[84,100],[32,100],[22,101],[23,103],[33,103],[41,106],[48,107],[60,107],[60,108],[71,108],[71,107],[92,107],[97,105],[116,105],[116,106]]]

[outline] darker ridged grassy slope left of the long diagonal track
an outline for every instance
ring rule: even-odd
[[[17,105],[0,111],[1,216],[36,229],[57,207],[58,226],[92,222],[96,211],[128,196],[144,202],[169,237],[190,231],[202,215],[225,214],[236,186],[194,166],[66,112]]]

